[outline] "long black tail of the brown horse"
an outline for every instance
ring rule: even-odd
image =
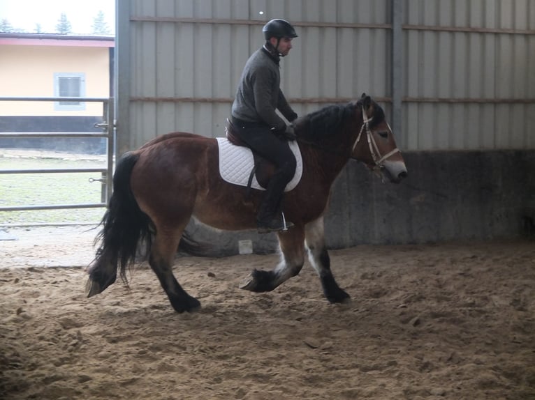
[[[130,187],[130,177],[138,158],[136,153],[125,153],[117,162],[113,193],[101,221],[102,229],[95,239],[100,245],[88,269],[88,297],[101,293],[115,282],[118,267],[123,282],[128,286],[126,270],[133,265],[138,246],[143,243],[145,254],[148,254],[152,244],[152,222],[139,208]]]

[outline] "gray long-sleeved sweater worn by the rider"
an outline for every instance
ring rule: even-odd
[[[256,50],[245,63],[240,85],[232,105],[232,116],[247,122],[265,123],[275,130],[284,130],[288,121],[297,118],[280,89],[281,74],[278,60],[265,48]]]

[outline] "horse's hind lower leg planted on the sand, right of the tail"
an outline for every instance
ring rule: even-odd
[[[173,275],[173,261],[181,236],[182,229],[179,231],[161,229],[156,233],[149,257],[149,265],[158,277],[163,290],[166,291],[171,305],[179,313],[194,311],[200,307],[199,300],[186,293]]]

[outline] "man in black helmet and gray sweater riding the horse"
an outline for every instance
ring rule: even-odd
[[[279,209],[284,188],[295,174],[295,157],[288,140],[295,140],[288,120],[298,117],[288,105],[280,89],[280,57],[288,55],[292,39],[297,38],[293,26],[285,20],[271,20],[262,29],[265,44],[247,60],[232,105],[232,122],[237,136],[277,168],[264,194],[256,222],[259,233],[280,231],[291,226],[281,218]]]

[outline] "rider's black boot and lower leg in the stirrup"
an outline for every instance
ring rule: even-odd
[[[260,208],[258,208],[256,217],[258,233],[283,231],[293,226],[291,222],[283,220],[282,213],[279,210],[284,196],[284,187],[286,187],[284,180],[277,179],[277,176],[271,178]]]

